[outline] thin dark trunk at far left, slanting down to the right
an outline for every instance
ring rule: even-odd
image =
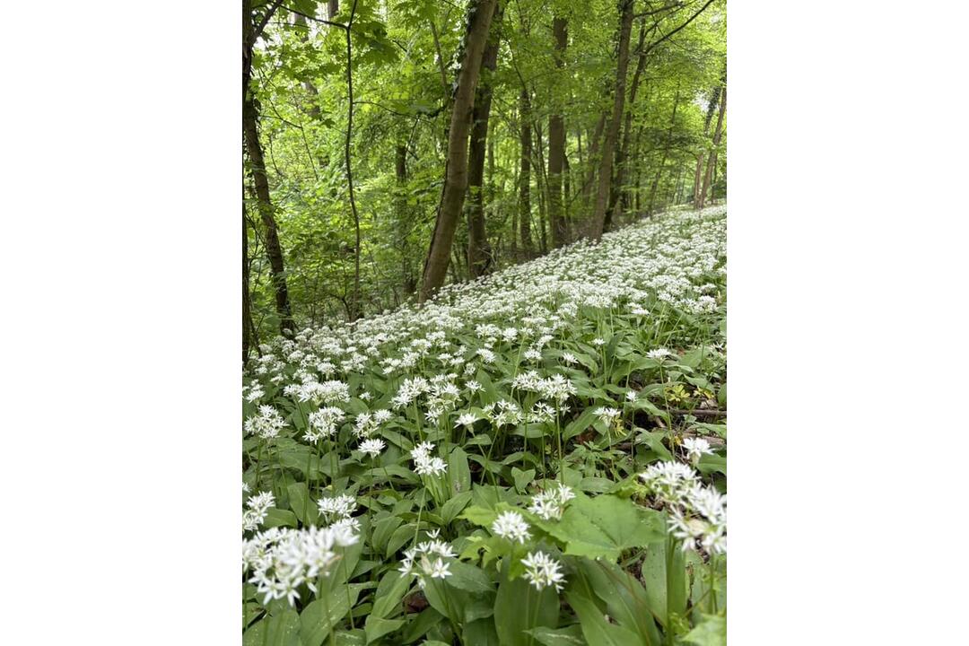
[[[273,11],[275,6],[278,6],[278,4],[273,6]],[[279,331],[285,333],[287,330],[292,332],[295,324],[290,307],[290,295],[286,288],[283,250],[279,244],[272,200],[269,198],[266,161],[263,157],[263,146],[259,140],[259,127],[257,125],[259,112],[256,108],[255,97],[250,90],[252,48],[257,38],[253,17],[251,0],[242,0],[242,134],[245,138],[246,152],[249,155],[249,169],[252,172],[253,184],[256,188],[260,219],[266,227],[266,256],[269,260],[269,268],[272,271],[276,313],[279,315]]]

